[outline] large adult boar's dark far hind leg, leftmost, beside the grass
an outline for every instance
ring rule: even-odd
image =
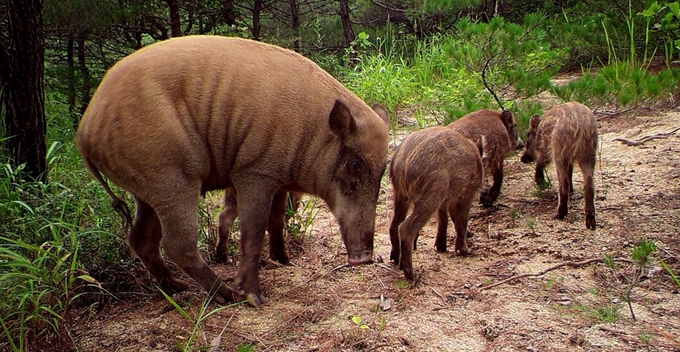
[[[189,285],[185,281],[175,279],[161,258],[162,228],[156,212],[141,199],[135,198],[135,201],[137,215],[128,236],[130,247],[164,291],[175,293],[186,290]]]

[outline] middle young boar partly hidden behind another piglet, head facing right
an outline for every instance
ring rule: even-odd
[[[452,122],[449,127],[472,141],[486,136],[488,159],[484,162],[484,173],[493,176],[493,185],[480,192],[479,202],[485,207],[491,206],[503,184],[503,160],[511,151],[524,147],[518,137],[517,122],[512,112],[478,110]]]

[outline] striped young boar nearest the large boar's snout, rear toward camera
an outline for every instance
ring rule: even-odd
[[[413,280],[412,252],[418,232],[435,211],[437,251],[446,252],[450,216],[456,228],[456,250],[470,253],[468,217],[484,175],[480,149],[475,143],[448,127],[414,132],[395,151],[389,175],[394,189],[390,259],[407,279]],[[413,211],[406,218],[411,206]]]

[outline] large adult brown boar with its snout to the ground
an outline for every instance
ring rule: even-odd
[[[78,127],[87,168],[130,192],[132,250],[160,285],[180,291],[165,255],[218,302],[265,302],[258,262],[274,194],[318,195],[336,217],[352,265],[371,262],[388,146],[387,111],[373,108],[311,60],[219,36],[149,45],[104,76]],[[234,287],[198,248],[198,201],[233,187],[241,219]]]

